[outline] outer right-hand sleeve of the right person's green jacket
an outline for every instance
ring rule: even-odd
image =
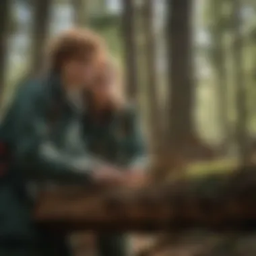
[[[128,125],[129,168],[147,170],[150,165],[150,158],[146,150],[139,118],[134,108],[129,108],[128,110]]]

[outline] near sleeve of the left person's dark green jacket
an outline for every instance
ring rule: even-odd
[[[86,155],[67,156],[56,148],[47,135],[47,102],[42,95],[30,88],[16,98],[12,133],[15,164],[29,179],[64,183],[90,181],[92,171],[102,163]]]

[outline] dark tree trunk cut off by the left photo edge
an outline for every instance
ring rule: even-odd
[[[10,0],[2,0],[0,7],[0,33],[1,33],[1,41],[0,41],[0,99],[2,100],[3,89],[5,85],[5,75],[7,68],[7,45],[8,45],[8,34],[9,34],[9,22],[11,18],[11,1]]]

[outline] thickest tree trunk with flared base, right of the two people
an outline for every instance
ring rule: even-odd
[[[195,129],[195,77],[193,70],[193,0],[166,0],[168,52],[168,125],[165,170],[179,170],[186,162],[212,159],[216,152]]]

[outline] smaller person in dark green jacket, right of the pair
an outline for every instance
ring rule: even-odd
[[[123,172],[124,183],[143,181],[149,161],[135,108],[125,103],[117,67],[109,61],[97,69],[88,87],[84,141],[91,154]],[[142,179],[141,179],[142,178]],[[130,183],[130,184],[129,184]],[[130,255],[125,234],[99,234],[100,256]]]

